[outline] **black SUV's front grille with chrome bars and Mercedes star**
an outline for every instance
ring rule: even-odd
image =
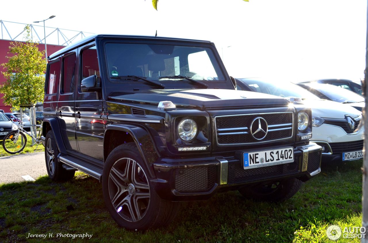
[[[218,145],[260,144],[293,137],[294,113],[254,113],[215,117]]]

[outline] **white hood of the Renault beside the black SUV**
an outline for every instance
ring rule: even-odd
[[[305,106],[312,108],[312,115],[322,118],[345,119],[345,115],[355,118],[362,114],[351,106],[335,101],[304,100],[303,103]]]

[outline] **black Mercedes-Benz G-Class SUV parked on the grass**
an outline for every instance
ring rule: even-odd
[[[320,172],[311,109],[235,90],[209,41],[96,35],[48,61],[49,177],[99,179],[127,229],[168,224],[178,202],[220,191],[288,199]]]

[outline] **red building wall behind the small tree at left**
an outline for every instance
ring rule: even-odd
[[[0,64],[3,64],[4,62],[8,62],[7,56],[11,56],[13,54],[8,54],[9,46],[10,46],[11,40],[0,40]],[[65,46],[58,46],[58,45],[51,45],[47,44],[47,55],[50,56],[56,51],[59,51],[60,49],[64,48]],[[45,44],[39,44],[38,49],[40,51],[45,50]],[[4,78],[4,75],[2,72],[4,72],[5,69],[3,66],[0,66],[0,84],[3,84],[6,79]],[[0,109],[4,110],[5,112],[10,112],[11,106],[3,104],[3,94],[0,94]]]

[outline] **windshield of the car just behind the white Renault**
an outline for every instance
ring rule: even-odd
[[[332,101],[344,103],[364,102],[364,97],[344,88],[330,84],[312,84],[310,87],[319,91]]]

